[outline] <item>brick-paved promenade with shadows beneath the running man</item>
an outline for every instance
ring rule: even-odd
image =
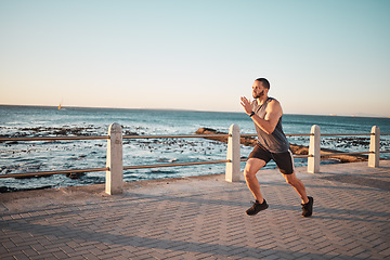
[[[245,214],[245,182],[224,176],[0,194],[0,259],[390,259],[390,161],[298,177],[312,218],[276,170],[258,174],[270,207]]]

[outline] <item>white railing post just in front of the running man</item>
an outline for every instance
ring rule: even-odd
[[[225,170],[225,181],[235,182],[240,179],[239,164],[240,164],[240,147],[239,147],[239,127],[233,123],[229,128],[227,138],[227,155]]]

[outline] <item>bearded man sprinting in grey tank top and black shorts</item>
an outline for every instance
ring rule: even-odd
[[[240,104],[245,113],[253,120],[258,133],[257,145],[250,153],[244,170],[246,183],[256,199],[246,213],[253,216],[269,207],[261,195],[256,173],[273,159],[286,182],[301,197],[302,217],[310,217],[312,216],[314,199],[307,195],[303,183],[294,171],[292,153],[282,128],[282,106],[277,100],[268,96],[269,90],[270,82],[264,78],[258,78],[252,86],[255,100],[250,102],[245,96],[240,98]]]

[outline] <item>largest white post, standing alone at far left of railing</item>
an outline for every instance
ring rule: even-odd
[[[109,195],[123,192],[122,129],[113,122],[108,129],[105,192]]]

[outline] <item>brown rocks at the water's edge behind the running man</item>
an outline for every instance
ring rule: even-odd
[[[220,132],[220,131],[217,131],[211,128],[199,128],[198,130],[196,130],[195,133],[196,134],[226,134],[225,132]],[[226,136],[210,136],[210,138],[206,138],[206,139],[227,143]],[[351,139],[349,139],[349,140],[351,140]],[[240,138],[239,142],[240,142],[240,144],[246,145],[246,146],[255,146],[257,143],[257,139],[243,136],[243,138]],[[308,146],[290,144],[290,148],[291,148],[292,154],[295,154],[295,155],[308,155],[309,154]],[[343,153],[343,152],[337,151],[337,150],[329,150],[329,148],[321,150],[321,154],[323,154],[323,155],[335,154],[335,153],[339,154],[339,153]],[[356,161],[366,161],[368,159],[368,156],[367,155],[329,155],[329,156],[323,157],[323,159],[325,159],[325,158],[332,158],[332,159],[338,160],[340,162],[356,162]]]

